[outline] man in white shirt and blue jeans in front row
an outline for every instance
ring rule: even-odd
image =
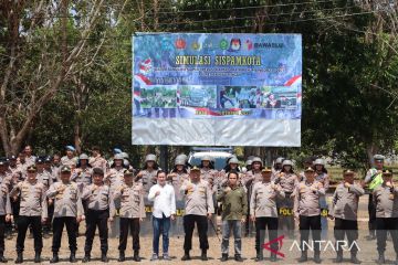
[[[154,254],[150,261],[159,259],[159,237],[163,236],[163,258],[170,261],[168,255],[170,219],[176,219],[176,194],[172,186],[167,184],[166,173],[157,172],[157,184],[149,190],[148,200],[154,201],[153,226],[154,226]]]

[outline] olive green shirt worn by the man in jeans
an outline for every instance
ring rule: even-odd
[[[248,197],[243,187],[231,188],[226,192],[222,189],[217,195],[217,201],[222,203],[222,220],[241,220],[248,214]]]

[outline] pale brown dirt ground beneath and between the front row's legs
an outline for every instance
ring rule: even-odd
[[[377,258],[377,250],[376,250],[376,241],[366,241],[365,236],[368,235],[367,232],[367,197],[363,197],[359,203],[359,240],[358,240],[358,245],[360,247],[360,251],[358,253],[358,258],[363,262],[363,264],[374,264],[376,262]],[[211,227],[210,227],[211,229]],[[81,232],[84,231],[84,227],[82,226]],[[182,231],[182,226],[180,227],[180,231]],[[13,263],[17,254],[15,254],[15,239],[17,236],[14,235],[12,240],[6,240],[6,257],[9,259],[9,264]],[[298,232],[296,231],[295,233],[295,239],[300,240],[298,236]],[[334,242],[333,240],[333,221],[328,222],[328,239],[331,239],[332,242]],[[80,236],[77,240],[77,258],[78,258],[78,263],[82,263],[81,259],[83,258],[84,255],[84,236]],[[109,263],[117,263],[117,257],[118,257],[118,250],[117,250],[117,245],[118,245],[118,239],[109,239],[109,251],[108,251],[108,257],[109,257]],[[42,259],[43,259],[43,264],[49,264],[50,263],[50,258],[52,256],[51,253],[51,239],[44,239],[44,248],[43,248],[43,253],[42,253]],[[170,263],[172,264],[198,264],[198,263],[203,263],[199,259],[200,256],[200,250],[199,250],[199,240],[198,237],[193,237],[192,244],[193,244],[193,250],[191,251],[191,256],[192,256],[192,261],[190,262],[181,262],[180,258],[184,254],[182,251],[182,244],[184,244],[184,235],[180,236],[172,236],[170,239],[170,247],[169,247],[169,254],[172,258],[172,261]],[[211,236],[209,237],[209,244],[210,244],[210,250],[208,252],[208,256],[209,256],[209,262],[210,264],[221,264],[220,262],[220,256],[221,256],[221,251],[220,251],[220,242],[217,239],[217,236]],[[147,234],[147,235],[143,235],[140,237],[140,256],[143,257],[142,263],[143,264],[148,264],[151,263],[149,261],[150,256],[151,256],[151,233]],[[322,264],[333,264],[333,258],[335,258],[335,252],[331,248],[331,247],[323,247],[323,252],[322,252]],[[160,241],[160,251],[161,251],[161,241]],[[283,246],[281,248],[281,252],[285,255],[284,257],[279,257],[277,263],[284,263],[284,264],[297,264],[297,258],[300,257],[300,251],[296,247],[292,247],[292,240],[284,240],[283,241]],[[92,262],[90,264],[101,264],[101,261],[98,259],[101,255],[101,251],[100,251],[100,240],[96,236],[94,240],[94,246],[93,246],[93,252],[92,252]],[[133,261],[130,259],[130,257],[133,256],[133,251],[132,251],[132,241],[128,242],[127,244],[127,251],[126,251],[126,256],[127,256],[127,261],[125,262],[126,264],[132,263]],[[260,263],[255,263],[253,261],[254,256],[255,256],[255,250],[254,250],[254,239],[253,237],[244,237],[243,242],[242,242],[242,256],[244,258],[244,263],[251,263],[251,264],[260,264]],[[265,250],[264,251],[264,256],[266,257],[265,261],[263,261],[262,263],[270,263],[269,261],[269,252]],[[314,264],[314,262],[312,261],[313,257],[313,253],[308,252],[308,256],[310,259],[307,262],[307,264]],[[25,252],[24,252],[24,259],[25,263],[33,263],[33,257],[34,257],[34,251],[33,251],[33,240],[32,239],[27,239],[25,241]],[[60,257],[61,257],[61,263],[60,264],[66,264],[69,263],[69,247],[67,247],[67,236],[66,236],[66,232],[64,232],[63,237],[62,237],[62,248],[60,251]],[[230,240],[230,261],[228,263],[237,263],[233,261],[233,240]],[[349,252],[345,252],[344,253],[344,257],[345,257],[345,263],[349,264]],[[395,261],[395,253],[394,253],[394,248],[392,248],[392,242],[388,241],[387,242],[387,251],[386,251],[386,258],[388,259],[387,263],[392,264],[392,261]],[[159,261],[158,263],[167,263],[164,261]],[[224,263],[222,263],[224,264]],[[276,263],[275,263],[276,264]]]

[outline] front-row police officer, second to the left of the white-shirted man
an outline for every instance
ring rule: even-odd
[[[113,222],[115,215],[115,204],[113,194],[108,186],[104,184],[104,170],[101,168],[93,169],[93,183],[85,187],[82,200],[87,200],[86,212],[86,241],[84,246],[83,262],[91,261],[91,251],[93,247],[93,240],[95,229],[98,227],[101,241],[101,261],[106,263],[108,251],[108,227],[107,221]]]

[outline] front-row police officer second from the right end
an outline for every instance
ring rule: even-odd
[[[360,261],[356,257],[358,252],[357,246],[353,242],[358,239],[358,202],[359,197],[365,194],[360,184],[354,183],[354,171],[345,170],[344,181],[336,187],[332,199],[331,219],[335,220],[334,235],[336,239],[336,263],[343,262],[343,248],[337,245],[343,242],[347,235],[348,244],[350,246],[350,262],[359,264]]]

